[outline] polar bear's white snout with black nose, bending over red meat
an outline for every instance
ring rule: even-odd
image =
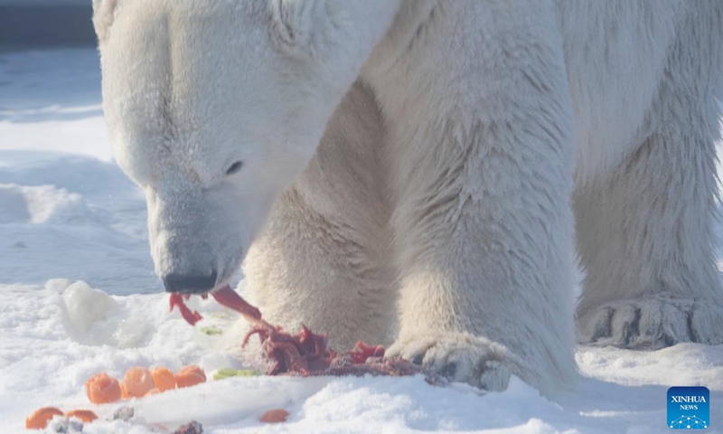
[[[203,294],[221,287],[239,269],[252,220],[243,203],[229,200],[234,190],[223,184],[198,188],[167,172],[146,187],[148,241],[155,275],[165,290]]]

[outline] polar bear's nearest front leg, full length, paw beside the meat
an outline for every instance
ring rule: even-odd
[[[394,169],[389,354],[485,389],[514,373],[551,391],[575,373],[571,108],[553,9],[459,1],[427,14],[418,40],[390,36],[408,46],[399,59],[382,49],[366,70]]]

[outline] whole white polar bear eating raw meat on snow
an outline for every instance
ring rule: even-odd
[[[172,292],[543,392],[577,341],[723,343],[718,0],[94,0]],[[245,259],[245,260],[244,260]]]

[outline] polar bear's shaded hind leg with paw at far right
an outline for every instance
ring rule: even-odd
[[[723,344],[712,230],[719,135],[714,95],[723,78],[714,48],[723,44],[723,8],[715,3],[696,4],[700,8],[681,28],[642,145],[614,173],[580,185],[575,194],[578,251],[587,270],[577,307],[583,343]]]

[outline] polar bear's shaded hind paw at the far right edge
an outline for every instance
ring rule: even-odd
[[[622,300],[578,316],[582,344],[659,349],[680,342],[723,344],[723,306],[673,297]]]

